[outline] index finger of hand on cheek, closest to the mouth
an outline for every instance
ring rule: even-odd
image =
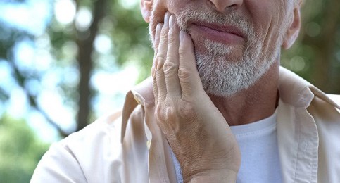
[[[180,66],[178,77],[182,88],[182,99],[203,91],[201,78],[196,66],[194,45],[189,34],[180,32]]]

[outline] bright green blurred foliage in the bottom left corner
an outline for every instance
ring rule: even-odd
[[[0,119],[0,182],[30,182],[34,168],[49,148],[24,120]]]

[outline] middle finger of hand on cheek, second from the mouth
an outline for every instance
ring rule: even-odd
[[[168,34],[168,53],[163,66],[167,96],[180,97],[182,92],[180,79],[178,78],[179,53],[180,46],[180,28],[176,23],[175,15],[171,15],[169,19]]]

